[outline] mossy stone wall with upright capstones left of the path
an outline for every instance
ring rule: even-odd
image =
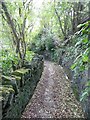
[[[3,76],[2,79],[14,81],[14,93],[10,93],[7,101],[3,102],[3,118],[20,118],[27,103],[32,97],[43,71],[43,57],[36,55],[31,63],[12,73],[12,76]],[[13,79],[12,79],[13,78]],[[9,81],[10,81],[9,80]]]

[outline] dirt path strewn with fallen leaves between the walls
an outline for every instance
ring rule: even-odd
[[[70,82],[61,66],[45,61],[44,72],[22,118],[82,118]]]

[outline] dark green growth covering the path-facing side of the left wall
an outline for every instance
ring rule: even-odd
[[[26,73],[26,76],[24,77],[25,83],[21,89],[19,89],[19,92],[15,96],[14,102],[12,102],[5,118],[21,118],[22,112],[32,97],[43,71],[43,61],[41,60],[41,57],[40,59],[39,57],[37,58],[38,59],[32,60],[30,67],[28,66],[28,69],[31,72],[27,72],[27,69],[17,70],[18,73]],[[35,70],[34,67],[36,68]]]

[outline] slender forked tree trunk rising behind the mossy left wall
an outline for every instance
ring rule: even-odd
[[[17,34],[17,31],[15,29],[15,24],[13,22],[13,19],[11,19],[11,15],[8,12],[7,6],[5,4],[5,2],[0,2],[0,4],[2,5],[2,9],[4,10],[4,13],[6,15],[7,18],[7,23],[11,28],[12,34],[15,38],[14,44],[16,45],[16,53],[19,54],[19,57],[21,59],[21,63],[20,66],[22,67],[22,65],[24,64],[24,58],[26,55],[26,43],[25,43],[25,24],[26,24],[26,16],[23,20],[23,24],[21,26],[20,29],[20,35]],[[21,16],[21,9],[19,9],[19,14]]]

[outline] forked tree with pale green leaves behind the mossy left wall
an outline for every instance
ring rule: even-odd
[[[20,66],[24,64],[26,55],[26,40],[27,30],[30,24],[26,24],[29,19],[31,1],[6,3],[0,2],[2,5],[2,19],[9,25],[13,44],[16,46],[16,53],[20,58]],[[17,7],[16,7],[17,6]],[[15,12],[15,13],[14,13]],[[13,15],[14,14],[14,15]],[[13,15],[13,16],[12,16]]]

